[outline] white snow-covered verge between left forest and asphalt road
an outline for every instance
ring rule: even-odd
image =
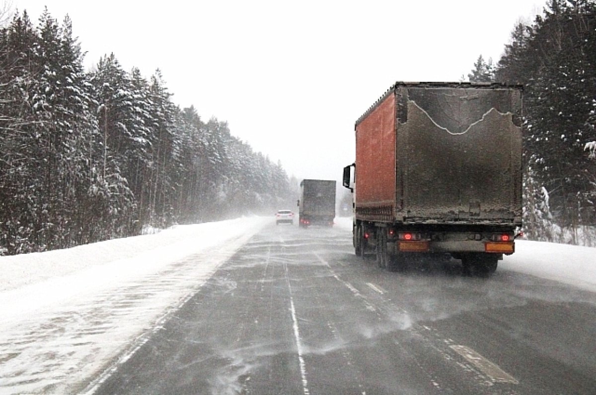
[[[271,222],[184,225],[0,257],[0,393],[79,393]]]

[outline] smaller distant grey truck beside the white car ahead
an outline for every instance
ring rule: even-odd
[[[301,227],[333,226],[336,215],[336,181],[302,180],[297,205],[298,222]]]

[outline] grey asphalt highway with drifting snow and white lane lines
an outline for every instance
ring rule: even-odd
[[[596,294],[272,224],[125,359],[95,393],[596,394]]]

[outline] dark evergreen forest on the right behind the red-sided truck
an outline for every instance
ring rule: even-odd
[[[596,1],[549,0],[470,81],[524,86],[524,230],[596,246]]]

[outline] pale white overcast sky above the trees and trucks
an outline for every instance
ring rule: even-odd
[[[546,0],[12,3],[35,24],[44,5],[68,14],[87,68],[110,52],[146,77],[160,68],[173,102],[228,121],[289,175],[339,180],[356,119],[395,81],[457,81],[480,54],[498,61]]]

